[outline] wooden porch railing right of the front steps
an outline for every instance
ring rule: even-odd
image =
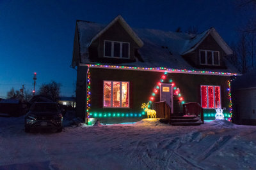
[[[197,102],[183,104],[184,115],[195,115],[200,117],[200,120],[204,123],[204,110]]]

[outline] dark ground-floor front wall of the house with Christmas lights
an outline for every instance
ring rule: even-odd
[[[141,113],[141,104],[147,103],[157,82],[163,73],[153,71],[129,71],[116,69],[90,68],[91,74],[91,108],[90,113]],[[210,76],[198,74],[168,73],[166,82],[172,78],[175,85],[180,88],[180,93],[186,103],[201,103],[200,85],[221,86],[221,106],[228,108],[228,76]],[[103,81],[129,81],[130,108],[103,108]],[[154,102],[159,101],[159,93],[155,96]],[[215,110],[204,110],[204,113],[216,113]],[[141,117],[145,118],[145,117]],[[207,117],[205,117],[207,119]],[[209,117],[211,118],[211,117]],[[124,120],[125,121],[125,120]]]

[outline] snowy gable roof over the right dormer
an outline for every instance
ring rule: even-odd
[[[215,39],[215,41],[218,43],[218,45],[220,45],[220,47],[227,55],[231,55],[233,53],[227,43],[221,38],[220,34],[218,34],[216,29],[212,27],[211,29],[207,29],[207,31],[204,31],[187,41],[186,45],[184,46],[184,52],[182,55],[193,52],[198,47],[198,45],[200,45],[202,41],[207,38],[209,34],[211,34],[211,36]]]

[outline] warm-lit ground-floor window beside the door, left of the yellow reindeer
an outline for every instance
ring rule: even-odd
[[[103,107],[129,108],[129,82],[104,81]]]

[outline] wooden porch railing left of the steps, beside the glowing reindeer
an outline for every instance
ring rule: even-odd
[[[156,110],[157,118],[166,118],[168,122],[170,121],[172,110],[165,101],[153,103],[153,109]]]

